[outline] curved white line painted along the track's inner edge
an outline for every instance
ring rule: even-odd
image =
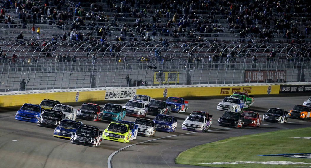
[[[296,122],[289,122],[289,123],[302,123],[302,122],[309,122],[309,121],[296,121]],[[262,125],[274,125],[274,124],[279,124],[279,123],[272,123],[272,124],[262,124]],[[286,124],[286,123],[285,123]],[[243,128],[243,127],[242,127]],[[217,130],[224,130],[224,129],[232,129],[232,128],[220,128],[220,129],[213,129],[213,130],[208,130],[208,131],[217,131]],[[143,141],[143,142],[138,142],[138,143],[134,143],[132,145],[128,145],[126,147],[122,147],[116,151],[114,151],[113,153],[111,153],[111,155],[109,155],[108,160],[107,160],[107,164],[108,164],[108,168],[112,168],[112,157],[117,154],[118,152],[122,151],[123,149],[132,147],[134,145],[139,145],[141,143],[146,143],[146,142],[151,142],[151,141],[155,141],[155,140],[159,140],[159,139],[164,139],[164,138],[170,138],[170,137],[176,137],[176,136],[180,136],[180,135],[187,135],[187,134],[192,134],[192,133],[198,133],[198,132],[191,132],[191,133],[183,133],[183,134],[178,134],[178,135],[171,135],[171,136],[167,136],[167,137],[161,137],[161,138],[156,138],[156,139],[150,139],[148,141]]]

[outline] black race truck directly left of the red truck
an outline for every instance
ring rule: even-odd
[[[226,127],[242,127],[244,124],[244,120],[242,115],[238,112],[230,112],[226,111],[219,119],[218,125],[226,126]]]

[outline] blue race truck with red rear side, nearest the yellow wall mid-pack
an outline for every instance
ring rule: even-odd
[[[166,99],[166,104],[171,107],[171,111],[185,112],[188,109],[188,101],[183,100],[180,97],[169,97]]]

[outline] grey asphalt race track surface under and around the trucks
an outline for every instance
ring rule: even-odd
[[[303,104],[309,96],[256,98],[250,111],[261,115],[270,107],[290,110],[296,104]],[[260,128],[227,128],[217,125],[223,114],[216,110],[220,99],[190,100],[186,114],[171,113],[178,119],[176,132],[156,132],[154,137],[137,136],[128,143],[102,140],[100,147],[71,144],[68,139],[54,138],[52,128],[39,127],[35,123],[15,120],[16,111],[0,113],[0,167],[12,168],[55,168],[55,167],[109,167],[114,168],[163,168],[202,167],[175,164],[180,152],[191,147],[224,138],[261,133],[282,129],[311,127],[311,120],[289,119],[285,124],[262,122]],[[75,107],[78,109],[79,107]],[[183,120],[193,110],[208,111],[213,115],[213,124],[207,133],[194,133],[181,129]],[[155,116],[147,115],[153,119]],[[80,120],[103,131],[109,121]],[[134,121],[133,117],[126,120]],[[138,143],[138,144],[137,144]],[[129,146],[129,147],[127,147]],[[121,148],[123,150],[120,150]],[[207,151],[208,152],[208,151]],[[256,151],[254,151],[256,152]],[[111,162],[110,162],[111,161]],[[111,165],[110,165],[111,163]]]

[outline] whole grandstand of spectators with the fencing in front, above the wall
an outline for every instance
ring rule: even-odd
[[[245,69],[291,69],[291,81],[299,82],[306,80],[301,71],[310,71],[308,0],[22,0],[2,6],[2,91],[18,90],[24,73],[32,78],[30,90],[42,90],[93,87],[93,76],[94,86],[113,87],[140,85],[124,83],[127,74],[174,85],[245,82],[237,72]],[[189,80],[185,72],[183,82],[154,82],[155,72],[184,70],[198,78]],[[210,70],[208,77],[203,70]]]

